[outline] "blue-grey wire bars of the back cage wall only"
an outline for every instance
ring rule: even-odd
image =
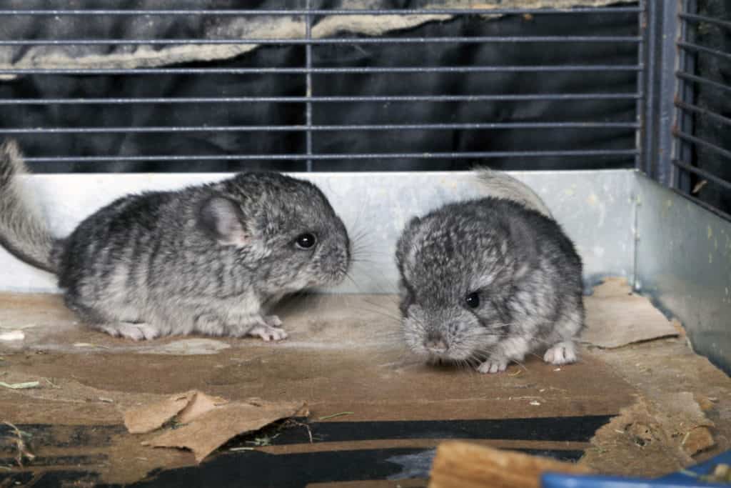
[[[570,14],[581,18],[583,15],[596,14],[616,15],[635,14],[637,15],[637,35],[621,36],[489,36],[489,37],[329,37],[313,38],[313,19],[318,15],[454,15],[454,16],[477,16],[477,15],[553,15]],[[642,29],[645,2],[640,1],[637,5],[613,6],[602,8],[577,7],[569,10],[551,9],[410,9],[410,10],[317,10],[311,8],[311,0],[306,0],[305,8],[284,9],[284,10],[0,10],[1,18],[10,16],[32,16],[34,18],[50,18],[58,16],[79,16],[94,18],[94,16],[173,16],[173,15],[205,15],[205,16],[303,16],[306,20],[305,31],[300,39],[1,39],[0,46],[36,46],[36,45],[227,45],[227,44],[257,44],[257,45],[304,45],[305,59],[301,67],[242,67],[242,68],[217,68],[217,67],[155,67],[155,68],[132,68],[132,69],[92,69],[92,68],[48,68],[48,69],[17,69],[0,70],[0,75],[215,75],[216,73],[228,73],[238,75],[305,75],[306,92],[300,96],[287,97],[96,97],[96,98],[22,98],[3,99],[0,105],[10,108],[13,105],[128,105],[128,104],[210,104],[210,103],[259,103],[271,104],[300,103],[303,104],[304,124],[286,125],[223,125],[210,126],[207,124],[195,125],[170,125],[155,127],[93,127],[91,125],[79,127],[0,127],[0,135],[33,135],[42,136],[48,134],[102,134],[102,133],[173,133],[173,132],[303,132],[306,135],[306,150],[302,153],[288,154],[211,154],[196,155],[194,159],[216,159],[216,160],[299,160],[306,162],[306,170],[314,168],[314,162],[321,159],[444,159],[444,158],[537,158],[537,157],[634,157],[637,165],[640,165],[641,144],[640,133],[643,129],[643,56],[645,49],[645,30]],[[571,45],[571,43],[621,43],[637,46],[637,61],[634,64],[602,64],[599,59],[596,64],[577,65],[534,65],[534,66],[419,66],[419,67],[318,67],[314,65],[312,50],[321,45],[364,45],[364,44],[412,44],[432,45],[435,43],[466,44],[466,43],[541,43],[547,48],[559,48]],[[635,72],[637,74],[637,91],[627,92],[602,92],[602,93],[536,93],[536,94],[440,94],[425,93],[411,95],[363,95],[363,96],[318,96],[314,95],[315,75],[326,75],[333,73],[349,73],[357,75],[374,75],[381,73],[505,73],[520,72],[527,75],[541,75],[550,72],[575,72],[580,75],[582,72]],[[634,120],[627,121],[474,121],[469,123],[393,123],[393,124],[314,124],[313,112],[316,106],[328,103],[431,103],[431,102],[499,102],[499,101],[520,101],[536,102],[543,100],[635,100],[637,113]],[[566,149],[542,151],[451,151],[451,152],[430,152],[419,147],[410,151],[399,152],[354,152],[352,154],[327,154],[314,151],[313,141],[319,134],[337,131],[406,131],[406,130],[434,130],[459,129],[459,130],[493,130],[493,129],[567,129],[583,131],[587,129],[627,129],[637,134],[637,144],[627,149],[583,149],[576,150],[567,147]],[[190,159],[186,154],[164,154],[164,155],[134,155],[119,156],[115,154],[93,154],[86,156],[34,156],[29,155],[29,162],[115,162],[115,161],[145,161],[145,162],[169,162]]]

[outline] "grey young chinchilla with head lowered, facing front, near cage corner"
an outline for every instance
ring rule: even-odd
[[[485,373],[539,348],[548,363],[576,361],[584,309],[574,244],[525,184],[491,170],[477,178],[491,196],[415,217],[398,241],[406,344]]]

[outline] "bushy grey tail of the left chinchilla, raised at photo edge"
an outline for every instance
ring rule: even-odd
[[[18,176],[26,165],[14,140],[0,146],[0,245],[36,268],[56,273],[51,260],[53,237],[40,209],[23,194]]]

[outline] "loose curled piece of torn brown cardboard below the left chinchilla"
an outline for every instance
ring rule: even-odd
[[[153,432],[170,421],[168,429],[145,446],[186,448],[193,451],[196,462],[201,462],[231,438],[262,429],[282,418],[306,416],[305,402],[267,402],[250,399],[229,402],[210,397],[200,391],[187,391],[168,397],[124,414],[124,425],[129,432]]]

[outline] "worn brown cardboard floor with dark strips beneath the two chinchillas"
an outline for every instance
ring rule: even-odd
[[[433,448],[455,438],[647,476],[730,448],[731,380],[682,329],[621,280],[586,304],[579,363],[531,356],[480,375],[409,356],[393,296],[289,300],[278,310],[289,338],[273,344],[136,343],[83,329],[58,296],[0,295],[0,487],[426,486]],[[124,426],[127,410],[191,390],[306,402],[308,416],[200,464]],[[22,452],[34,458],[21,468]]]

